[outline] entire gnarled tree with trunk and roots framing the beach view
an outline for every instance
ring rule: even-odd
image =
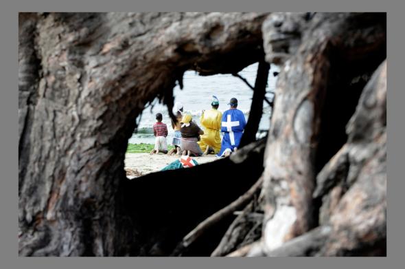
[[[261,176],[264,230],[252,246],[262,255],[299,235],[290,244],[317,255],[384,255],[384,67],[362,89],[385,50],[385,14],[20,13],[19,255],[170,255]],[[171,111],[187,69],[237,74],[264,52],[281,65],[266,143],[126,179],[127,141],[148,103]],[[237,238],[234,220],[183,255]],[[319,242],[305,237],[319,225],[332,230],[318,250],[302,238]]]

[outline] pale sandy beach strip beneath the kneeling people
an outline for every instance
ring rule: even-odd
[[[201,157],[193,157],[198,164],[212,162],[217,160],[215,155],[207,155]],[[126,153],[125,154],[125,169],[136,169],[142,175],[157,172],[163,169],[171,162],[178,159],[176,155],[165,155],[162,153],[150,155],[149,153]],[[131,178],[128,176],[128,178]],[[133,178],[133,176],[132,176]]]

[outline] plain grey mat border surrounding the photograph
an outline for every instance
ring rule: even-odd
[[[322,0],[14,0],[1,3],[0,268],[402,268],[404,257],[404,1]],[[147,258],[18,257],[18,12],[101,11],[375,11],[388,12],[388,257]]]

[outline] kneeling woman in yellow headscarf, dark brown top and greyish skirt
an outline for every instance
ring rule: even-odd
[[[203,155],[203,151],[201,151],[197,142],[200,135],[204,134],[204,131],[192,121],[192,116],[190,114],[183,115],[181,124],[181,150],[183,151],[183,155]]]

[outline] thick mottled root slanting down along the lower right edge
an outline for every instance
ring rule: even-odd
[[[320,226],[249,256],[386,255],[386,62],[362,92],[347,125],[348,140],[317,175]]]

